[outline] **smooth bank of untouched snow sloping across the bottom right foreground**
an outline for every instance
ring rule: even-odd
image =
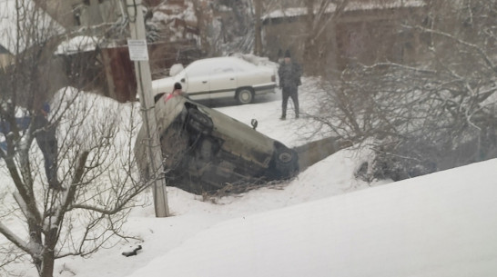
[[[492,276],[496,167],[492,160],[240,216],[128,276]]]

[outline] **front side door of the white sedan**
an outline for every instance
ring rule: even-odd
[[[209,73],[208,66],[204,63],[192,63],[185,69],[185,83],[190,99],[203,100],[208,99],[209,93]]]

